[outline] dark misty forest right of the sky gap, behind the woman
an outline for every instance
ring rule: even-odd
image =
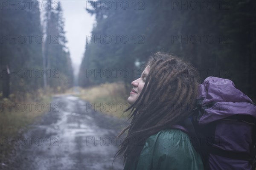
[[[255,102],[255,1],[110,2],[87,3],[96,24],[86,37],[79,86],[130,85],[148,57],[163,51],[192,62],[200,82],[231,79]]]

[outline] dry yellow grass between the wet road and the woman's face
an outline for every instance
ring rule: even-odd
[[[124,83],[105,83],[91,88],[79,88],[79,91],[78,96],[90,102],[87,105],[95,111],[102,111],[117,117],[126,117],[127,114],[122,115],[129,106]]]

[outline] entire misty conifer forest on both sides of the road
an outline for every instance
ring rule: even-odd
[[[47,88],[64,92],[74,85],[61,3],[35,2],[13,1],[19,8],[1,2],[2,97]],[[42,2],[44,10],[38,10]],[[80,87],[121,81],[130,88],[148,57],[163,51],[192,62],[200,82],[208,76],[231,79],[256,100],[254,0],[103,0],[87,1],[84,10],[96,23],[81,37],[86,46],[76,77]]]

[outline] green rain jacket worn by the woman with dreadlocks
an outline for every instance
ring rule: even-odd
[[[189,136],[176,129],[161,130],[150,136],[135,162],[129,158],[124,170],[203,170],[201,156]]]

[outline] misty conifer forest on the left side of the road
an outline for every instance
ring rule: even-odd
[[[61,3],[1,1],[0,12],[1,97],[23,101],[42,89],[63,93],[72,87]]]

